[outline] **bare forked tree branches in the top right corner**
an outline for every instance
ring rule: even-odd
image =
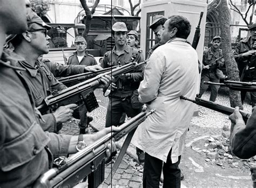
[[[235,3],[233,3],[232,0],[229,0],[229,1],[228,1],[228,4],[230,5],[230,9],[231,9],[231,10],[233,10],[233,11],[239,13],[239,15],[242,17],[242,19],[243,19],[244,22],[246,23],[246,25],[249,27],[250,25],[253,24],[252,19],[253,19],[254,10],[255,10],[255,2],[254,2],[254,0],[248,0],[247,2],[248,2],[248,4],[249,4],[249,6],[248,6],[248,8],[247,8],[245,14],[243,14],[243,13],[239,10],[239,8],[237,7],[237,5],[235,5]],[[250,21],[248,22],[248,21],[247,21],[247,16],[248,16],[248,12],[250,11],[251,8],[252,8],[252,11],[251,11],[251,15],[250,15]]]

